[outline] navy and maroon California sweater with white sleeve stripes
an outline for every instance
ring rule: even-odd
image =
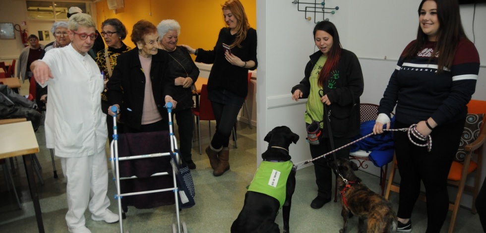
[[[408,49],[415,41],[405,48]],[[415,124],[432,117],[438,125],[464,119],[467,103],[476,89],[479,54],[474,44],[463,38],[451,70],[437,73],[434,42],[411,59],[400,58],[380,101],[378,113],[390,114],[395,105],[396,120]],[[402,54],[403,55],[403,54]]]

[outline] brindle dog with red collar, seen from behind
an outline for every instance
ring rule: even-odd
[[[336,168],[334,161],[330,162],[331,168]],[[344,219],[343,229],[340,233],[346,233],[350,212],[359,218],[358,233],[394,233],[397,231],[397,215],[393,211],[391,203],[384,197],[371,191],[361,183],[360,177],[355,175],[358,166],[348,159],[337,160],[338,170],[347,179],[336,175],[336,183],[341,191],[341,204],[343,209],[341,216]],[[368,219],[368,229],[364,229],[364,219]]]

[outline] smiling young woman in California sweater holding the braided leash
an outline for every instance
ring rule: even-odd
[[[411,232],[412,211],[423,181],[427,198],[427,233],[439,232],[449,208],[447,175],[459,147],[467,104],[476,89],[479,55],[462,28],[459,5],[451,0],[422,0],[417,39],[398,60],[380,101],[374,133],[413,126],[431,136],[430,152],[416,146],[407,132],[394,132],[401,176],[398,232]]]

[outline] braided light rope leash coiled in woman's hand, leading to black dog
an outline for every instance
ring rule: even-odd
[[[430,152],[430,150],[432,149],[432,137],[430,135],[425,136],[425,135],[421,134],[417,130],[417,124],[412,124],[408,128],[383,129],[383,131],[403,131],[403,132],[407,132],[407,135],[408,135],[408,138],[409,138],[410,142],[412,142],[414,145],[420,146],[420,147],[427,147],[427,151],[428,152]],[[359,139],[357,139],[355,141],[352,141],[352,142],[350,142],[350,143],[348,143],[348,144],[346,144],[346,145],[344,145],[342,147],[339,147],[339,148],[337,148],[335,150],[332,150],[330,152],[327,152],[327,153],[325,153],[325,154],[323,154],[323,155],[321,155],[319,157],[316,157],[316,158],[307,160],[307,161],[303,162],[302,164],[296,165],[296,167],[299,168],[299,167],[301,167],[303,165],[306,165],[306,164],[308,164],[308,163],[310,163],[310,162],[312,162],[314,160],[318,160],[318,159],[320,159],[322,157],[325,158],[326,156],[328,156],[328,155],[330,155],[332,153],[335,153],[336,151],[339,151],[341,149],[344,149],[344,148],[346,148],[348,146],[351,146],[351,145],[353,145],[353,144],[355,144],[355,143],[357,143],[357,142],[359,142],[359,141],[361,141],[361,140],[363,140],[363,139],[365,139],[365,138],[367,138],[367,137],[369,137],[371,135],[374,135],[374,134],[373,133],[369,133],[368,135],[366,135],[364,137],[361,137],[361,138],[359,138]],[[414,140],[412,139],[412,136],[411,135],[413,135],[415,138],[417,138],[417,139],[419,139],[421,141],[425,141],[425,143],[424,144],[419,144],[419,143],[414,142]]]

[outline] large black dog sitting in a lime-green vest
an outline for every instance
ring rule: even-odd
[[[289,232],[290,207],[296,183],[289,146],[292,142],[297,143],[299,135],[287,126],[278,126],[263,140],[268,142],[268,148],[261,155],[263,162],[244,196],[243,209],[231,226],[232,233],[280,233],[275,223],[280,207],[283,211],[284,233]],[[263,174],[262,182],[257,178],[260,174]],[[285,179],[287,182],[283,181]],[[264,186],[263,189],[277,190],[276,196],[279,198],[264,194],[266,191],[259,189],[259,184]]]

